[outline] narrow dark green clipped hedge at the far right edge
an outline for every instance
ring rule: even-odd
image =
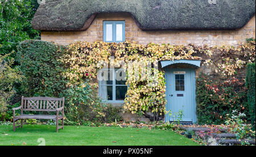
[[[246,87],[248,88],[247,100],[249,105],[249,115],[251,125],[255,130],[255,63],[247,65]]]

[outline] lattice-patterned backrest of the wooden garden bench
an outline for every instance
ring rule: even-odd
[[[64,97],[22,97],[23,111],[56,111],[64,106]]]

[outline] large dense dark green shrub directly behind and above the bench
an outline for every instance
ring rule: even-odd
[[[59,57],[65,47],[47,41],[23,41],[18,46],[18,61],[22,80],[23,94],[27,96],[56,96],[65,90],[67,80]]]

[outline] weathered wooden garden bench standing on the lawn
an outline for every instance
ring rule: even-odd
[[[15,116],[15,110],[21,109],[21,114]],[[43,112],[56,112],[56,115],[48,114],[23,114],[23,111],[43,111]],[[61,115],[59,115],[61,112]],[[19,126],[15,126],[15,121],[21,120]],[[20,107],[13,108],[13,131],[16,128],[23,128],[24,119],[46,119],[56,121],[56,132],[59,129],[64,129],[64,97],[23,97]],[[59,120],[62,120],[61,126],[59,127]]]

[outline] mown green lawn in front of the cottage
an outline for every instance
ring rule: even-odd
[[[174,131],[119,127],[64,126],[55,132],[54,125],[23,125],[13,131],[13,126],[0,125],[0,145],[39,145],[44,138],[46,145],[60,146],[195,146],[197,143]],[[25,142],[25,143],[24,143]]]

